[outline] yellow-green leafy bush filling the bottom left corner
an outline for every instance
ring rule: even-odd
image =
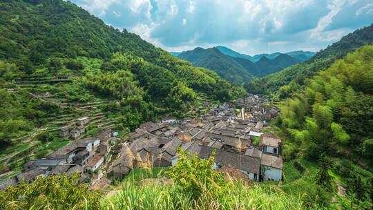
[[[0,192],[1,209],[99,209],[98,191],[79,184],[75,174],[37,178]]]

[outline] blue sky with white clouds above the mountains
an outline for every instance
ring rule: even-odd
[[[373,23],[372,0],[70,0],[169,51],[318,51]]]

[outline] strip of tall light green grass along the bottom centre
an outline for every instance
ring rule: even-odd
[[[301,198],[294,198],[275,188],[254,185],[246,187],[234,182],[230,191],[218,200],[203,193],[198,200],[175,184],[139,184],[127,180],[114,195],[102,202],[104,209],[305,209]]]

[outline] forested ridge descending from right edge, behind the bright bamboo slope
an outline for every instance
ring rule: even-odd
[[[281,86],[287,84],[289,86],[283,88],[285,92],[296,89],[299,84],[303,84],[305,78],[312,77],[320,70],[326,70],[336,59],[341,59],[358,47],[372,44],[372,34],[373,24],[346,35],[340,41],[316,53],[314,57],[307,61],[248,82],[245,84],[245,88],[249,93],[274,93]]]

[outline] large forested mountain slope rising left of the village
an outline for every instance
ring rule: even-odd
[[[3,1],[0,21],[0,88],[8,88],[0,95],[12,104],[0,108],[6,113],[0,119],[1,142],[45,123],[45,113],[59,112],[31,100],[35,95],[64,102],[117,100],[119,107],[112,104],[117,118],[135,128],[160,114],[155,105],[187,110],[198,94],[219,101],[246,94],[213,71],[108,26],[70,1]],[[68,79],[55,79],[60,77]]]

